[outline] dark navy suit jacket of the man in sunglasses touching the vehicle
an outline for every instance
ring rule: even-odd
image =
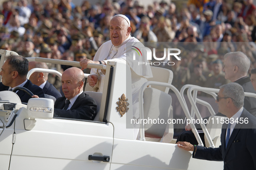
[[[256,170],[256,117],[243,109],[240,118],[243,120],[248,118],[248,123],[236,124],[227,148],[225,144],[227,124],[224,124],[219,148],[197,146],[193,157],[204,160],[224,160],[224,170]]]

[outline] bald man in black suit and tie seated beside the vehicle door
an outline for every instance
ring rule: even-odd
[[[62,74],[62,91],[65,96],[58,98],[54,106],[54,116],[72,119],[93,120],[97,104],[83,91],[84,73],[71,67]]]

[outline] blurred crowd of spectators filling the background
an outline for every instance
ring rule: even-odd
[[[110,19],[117,14],[130,19],[130,34],[140,42],[169,42],[170,48],[172,43],[181,44],[181,61],[168,67],[178,89],[188,83],[212,88],[228,83],[222,71],[227,52],[244,52],[251,69],[256,67],[253,0],[188,0],[186,6],[165,0],[148,6],[139,0],[105,0],[103,4],[84,0],[77,6],[72,0],[5,0],[0,13],[0,49],[24,57],[93,59],[110,40]],[[48,67],[61,72],[68,68]],[[60,80],[53,79],[51,83],[59,90]]]

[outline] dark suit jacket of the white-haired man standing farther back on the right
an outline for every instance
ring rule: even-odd
[[[253,84],[249,77],[242,77],[236,80],[234,83],[238,83],[243,87],[244,92],[256,93],[253,88]],[[244,97],[244,106],[252,115],[256,116],[256,98],[254,97]]]

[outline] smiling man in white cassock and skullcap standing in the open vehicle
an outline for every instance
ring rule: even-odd
[[[152,77],[152,72],[149,65],[139,65],[138,61],[146,63],[146,57],[126,58],[127,53],[133,53],[131,45],[135,45],[138,48],[143,48],[144,45],[139,42],[138,39],[131,37],[130,32],[130,20],[124,15],[115,15],[110,20],[110,41],[105,42],[97,50],[94,60],[84,59],[80,61],[82,70],[87,67],[87,64],[107,64],[107,61],[116,61],[125,64],[129,64],[132,75],[132,95],[133,95],[133,119],[139,118],[139,89],[143,83],[147,81],[147,78]],[[145,56],[145,55],[144,55]],[[99,82],[98,77],[100,76]],[[104,79],[104,73],[97,69],[91,69],[91,75],[87,78],[87,83],[91,86],[91,91],[103,90],[102,81]],[[134,126],[135,138],[139,132],[139,125]]]

